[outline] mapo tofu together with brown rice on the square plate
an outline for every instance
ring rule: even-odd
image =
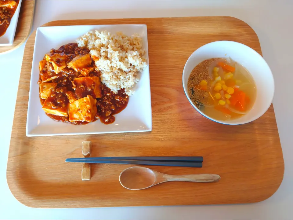
[[[115,121],[128,104],[137,73],[146,67],[138,35],[88,32],[39,62],[42,109],[50,118],[72,124]]]

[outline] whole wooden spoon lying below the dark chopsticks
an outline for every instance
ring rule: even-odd
[[[126,189],[146,189],[168,181],[218,182],[217,174],[168,175],[153,171],[147,167],[129,167],[121,172],[119,181]]]

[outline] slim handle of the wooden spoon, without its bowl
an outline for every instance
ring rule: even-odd
[[[188,181],[188,182],[218,182],[220,176],[217,174],[190,174],[190,175],[168,175],[167,181]]]

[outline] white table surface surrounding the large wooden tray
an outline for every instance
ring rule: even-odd
[[[67,9],[67,12],[63,12]],[[285,161],[277,192],[256,204],[175,207],[36,209],[20,204],[6,182],[6,166],[24,45],[0,55],[0,218],[1,219],[292,219],[293,218],[293,1],[37,1],[33,29],[53,20],[233,16],[259,37],[273,71],[273,105]],[[9,92],[7,92],[9,91]],[[191,195],[192,196],[192,195]],[[154,198],[156,199],[156,198]]]

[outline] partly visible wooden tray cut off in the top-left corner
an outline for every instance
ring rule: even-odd
[[[21,2],[13,45],[0,46],[0,54],[15,50],[27,40],[33,25],[34,5],[35,0],[24,0]]]

